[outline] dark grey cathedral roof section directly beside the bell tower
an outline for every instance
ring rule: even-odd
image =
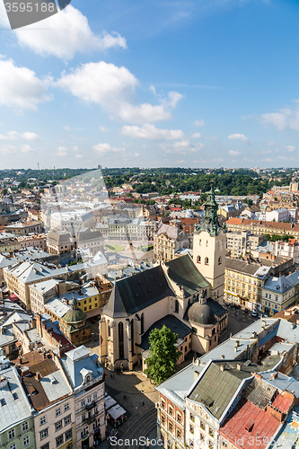
[[[196,268],[189,254],[165,263],[168,276],[173,282],[182,286],[186,296],[194,295],[209,285]]]

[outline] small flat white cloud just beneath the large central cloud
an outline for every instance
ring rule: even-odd
[[[127,125],[122,127],[121,132],[125,136],[149,140],[174,140],[184,137],[181,129],[159,129],[151,123],[145,123],[142,127]]]

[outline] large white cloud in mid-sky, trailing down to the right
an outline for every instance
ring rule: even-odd
[[[160,104],[136,103],[138,81],[128,68],[104,61],[87,63],[70,74],[63,73],[56,83],[65,91],[86,103],[100,104],[114,117],[127,122],[146,123],[171,118],[171,110],[182,98],[179,92],[169,92]]]

